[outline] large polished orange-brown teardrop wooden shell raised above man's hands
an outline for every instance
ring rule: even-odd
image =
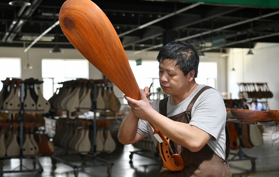
[[[139,86],[122,43],[104,12],[90,0],[67,0],[59,13],[73,46],[125,95],[140,100]]]

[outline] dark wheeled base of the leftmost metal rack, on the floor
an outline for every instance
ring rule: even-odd
[[[16,167],[13,170],[3,170],[4,166],[4,160],[10,160],[10,159],[20,159],[20,165]],[[28,169],[26,166],[23,165],[22,160],[30,160],[33,161],[33,169]],[[38,165],[38,168],[37,168]],[[1,158],[0,160],[0,176],[2,177],[4,173],[32,173],[35,172],[35,177],[41,177],[43,168],[41,166],[40,161],[38,160],[37,156],[32,157],[7,157],[7,158]]]

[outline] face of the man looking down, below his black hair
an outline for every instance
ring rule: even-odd
[[[184,93],[189,79],[189,74],[184,76],[179,66],[175,64],[176,62],[169,59],[159,64],[160,85],[165,93],[173,96]]]

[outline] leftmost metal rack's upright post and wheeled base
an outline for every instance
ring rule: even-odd
[[[20,139],[20,156],[19,157],[2,157],[0,158],[0,176],[2,177],[4,173],[25,173],[25,172],[35,172],[35,177],[41,177],[43,168],[38,160],[37,156],[24,157],[23,156],[23,114],[24,114],[24,82],[21,82],[20,86],[20,112],[19,112],[19,139]],[[7,159],[19,159],[20,165],[13,170],[3,170],[4,160]],[[32,161],[33,169],[29,169],[23,165],[23,160]],[[37,166],[38,165],[38,166]],[[38,168],[37,168],[38,167]]]

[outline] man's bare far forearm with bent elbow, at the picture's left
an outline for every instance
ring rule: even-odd
[[[118,140],[122,144],[134,143],[134,138],[137,134],[139,118],[135,117],[130,111],[128,115],[123,119],[119,131]]]

